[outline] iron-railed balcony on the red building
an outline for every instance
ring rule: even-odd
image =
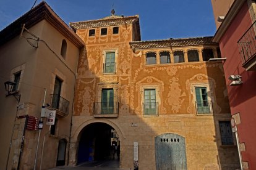
[[[242,67],[246,71],[256,70],[256,24],[255,22],[244,33],[241,39],[237,42],[239,53],[242,60]]]

